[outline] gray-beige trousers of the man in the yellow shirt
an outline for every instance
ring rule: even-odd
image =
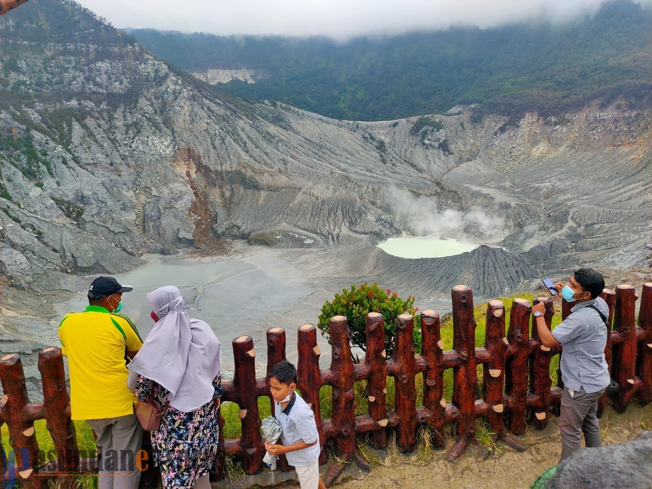
[[[97,435],[99,489],[138,489],[141,471],[136,465],[136,454],[140,451],[143,428],[136,415],[86,422]]]

